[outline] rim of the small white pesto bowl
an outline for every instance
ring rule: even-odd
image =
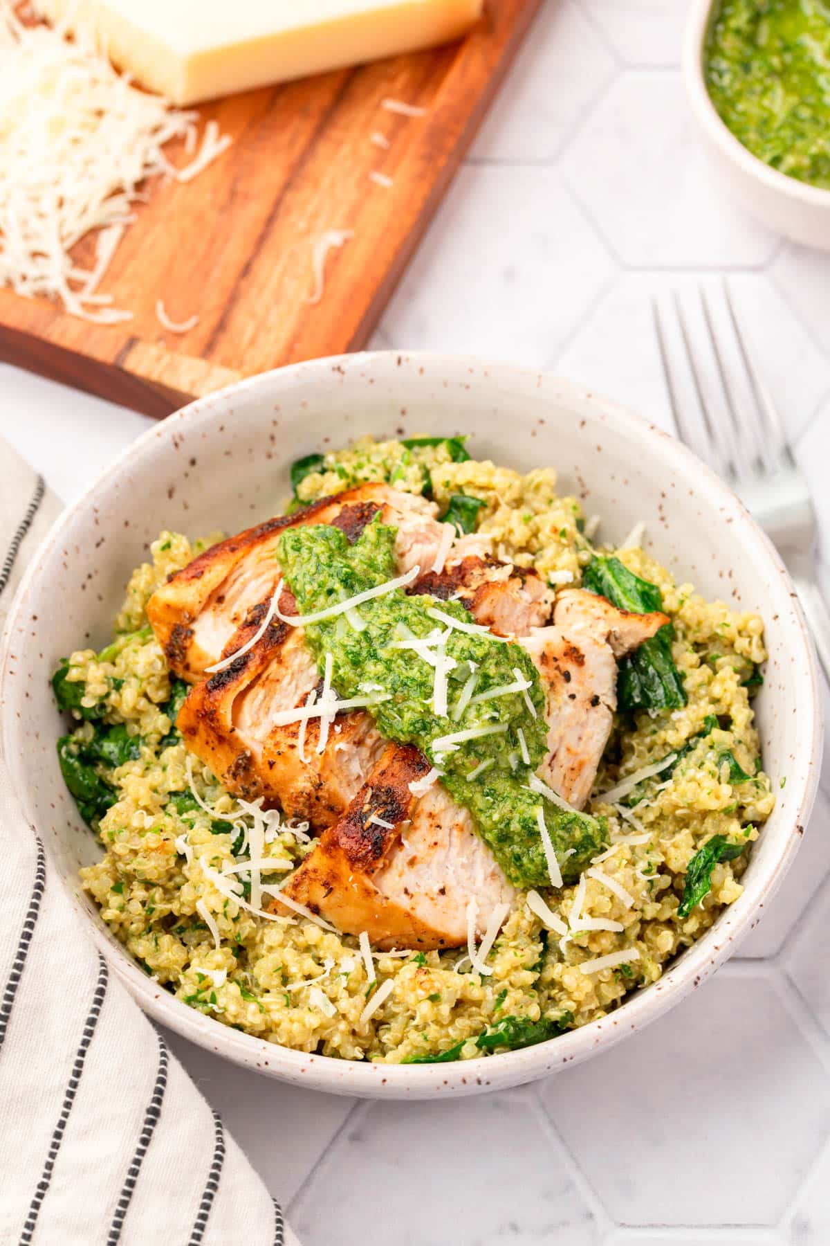
[[[703,74],[704,45],[709,22],[722,0],[693,0],[683,35],[682,70],[687,92],[696,116],[702,122],[709,138],[720,152],[737,164],[743,173],[768,189],[798,203],[814,208],[826,208],[830,212],[830,189],[800,182],[796,177],[781,173],[767,164],[737,138],[716,108],[706,87]]]

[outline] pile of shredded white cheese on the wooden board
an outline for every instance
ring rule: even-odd
[[[197,153],[198,121],[133,87],[91,44],[24,26],[0,0],[0,285],[96,324],[131,319],[101,282],[144,179],[189,181],[230,143],[213,122]],[[183,168],[164,155],[172,140],[193,156]],[[96,258],[78,268],[72,249],[91,231]]]

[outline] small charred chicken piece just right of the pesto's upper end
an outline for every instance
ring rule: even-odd
[[[419,576],[407,592],[431,593],[443,601],[453,598],[497,635],[525,635],[530,628],[548,622],[555,593],[535,571],[495,558],[459,558],[459,552],[463,553],[459,545],[442,572]]]

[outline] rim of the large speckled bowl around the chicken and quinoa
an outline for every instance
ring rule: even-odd
[[[758,923],[760,908],[773,896],[793,862],[819,785],[820,766],[815,764],[815,759],[821,758],[824,728],[815,652],[786,568],[778,551],[754,522],[743,502],[691,450],[661,427],[621,404],[553,373],[535,371],[514,364],[489,364],[473,356],[386,350],[292,364],[246,378],[214,394],[197,399],[173,412],[162,424],[147,429],[98,475],[81,497],[67,506],[56,518],[26,568],[11,603],[0,643],[0,736],[6,736],[15,716],[11,708],[14,688],[11,695],[5,694],[10,685],[10,640],[14,624],[22,616],[26,598],[36,584],[44,558],[61,541],[62,533],[76,517],[93,510],[100,491],[108,490],[112,481],[124,468],[141,470],[142,464],[152,461],[153,447],[174,441],[183,422],[190,425],[192,429],[210,424],[220,417],[229,404],[238,406],[240,397],[244,400],[248,395],[258,392],[265,392],[269,397],[274,397],[285,388],[295,392],[309,381],[327,378],[330,383],[333,379],[333,383],[337,384],[346,380],[351,373],[360,375],[361,371],[385,368],[388,368],[389,376],[402,378],[406,384],[409,376],[402,366],[403,364],[411,366],[409,375],[416,384],[419,374],[424,375],[427,381],[434,383],[439,376],[445,379],[453,373],[459,375],[463,373],[468,385],[474,378],[480,384],[493,386],[497,395],[509,388],[518,394],[541,394],[544,396],[548,392],[551,402],[557,400],[565,404],[570,401],[582,406],[590,405],[600,422],[622,425],[632,437],[645,441],[651,447],[656,461],[662,459],[684,476],[693,473],[696,488],[708,492],[711,501],[717,502],[713,510],[719,516],[718,522],[725,522],[725,517],[730,516],[730,522],[739,523],[743,532],[742,541],[754,542],[758,552],[763,552],[770,563],[775,577],[783,582],[781,587],[785,589],[788,608],[791,612],[790,622],[795,628],[794,635],[798,637],[798,643],[801,647],[801,684],[806,698],[804,709],[809,710],[810,714],[809,739],[810,759],[805,759],[803,764],[801,790],[791,832],[784,841],[778,860],[770,863],[768,876],[752,903],[744,892],[734,905],[724,910],[716,923],[691,948],[666,969],[656,983],[633,994],[615,1012],[590,1022],[580,1029],[569,1030],[534,1047],[504,1053],[495,1059],[493,1057],[477,1057],[447,1064],[434,1062],[428,1064],[371,1064],[309,1054],[230,1029],[213,1018],[203,1017],[162,989],[158,983],[139,969],[127,951],[114,941],[100,916],[83,910],[83,920],[91,928],[97,947],[133,998],[151,1017],[169,1025],[184,1038],[207,1050],[221,1054],[234,1063],[314,1089],[368,1098],[416,1099],[445,1094],[473,1094],[482,1089],[516,1085],[556,1072],[569,1064],[581,1063],[595,1052],[613,1045],[633,1030],[656,1020],[674,1003],[679,1003],[691,991],[706,982],[729,958],[737,943]],[[732,533],[734,535],[734,532],[733,527]],[[26,771],[20,750],[9,750],[6,763],[12,789],[29,816]],[[29,820],[32,821],[31,817]],[[46,836],[44,837],[46,839]],[[61,868],[55,862],[52,862],[52,867],[72,906],[76,910],[81,908]]]

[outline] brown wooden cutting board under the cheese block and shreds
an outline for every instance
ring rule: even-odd
[[[360,350],[539,4],[488,0],[459,44],[203,106],[233,145],[192,182],[149,187],[102,284],[133,319],[93,325],[2,289],[0,359],[164,416],[243,376]],[[427,112],[399,116],[385,98]],[[353,237],[329,253],[312,304],[329,229]],[[166,331],[158,299],[198,325]]]

